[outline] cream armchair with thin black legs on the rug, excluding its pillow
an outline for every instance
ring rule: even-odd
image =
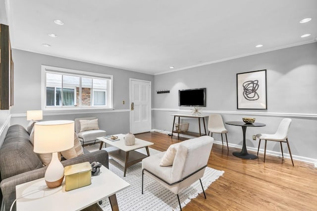
[[[178,194],[198,179],[203,188],[201,178],[207,167],[212,144],[213,138],[207,135],[180,142],[172,166],[159,165],[165,152],[143,159],[142,194],[143,177],[146,174],[177,195],[181,210]],[[206,199],[204,188],[203,192]]]

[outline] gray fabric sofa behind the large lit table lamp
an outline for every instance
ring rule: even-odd
[[[64,160],[63,166],[69,166],[82,162],[97,161],[108,168],[108,154],[105,150],[88,152],[84,149],[84,155]],[[46,167],[38,155],[33,152],[29,133],[20,125],[8,128],[4,142],[0,148],[0,188],[4,211],[9,211],[15,200],[15,186],[25,182],[44,177]],[[13,207],[15,209],[15,205]]]

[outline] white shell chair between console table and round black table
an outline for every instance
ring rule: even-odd
[[[220,114],[211,114],[208,118],[208,135],[211,132],[212,133],[220,133],[221,134],[221,141],[223,145],[223,137],[222,134],[224,133],[226,135],[226,141],[227,141],[227,149],[229,151],[228,146],[228,138],[227,138],[227,132],[228,130],[224,127],[223,120]]]

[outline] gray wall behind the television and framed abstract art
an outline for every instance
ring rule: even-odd
[[[267,70],[267,111],[237,110],[236,74],[264,69]],[[256,122],[266,124],[266,127],[247,129],[247,146],[251,150],[258,147],[258,140],[252,140],[253,134],[274,133],[280,121],[289,117],[293,120],[289,133],[292,154],[296,159],[316,162],[316,81],[317,42],[156,75],[154,89],[168,89],[170,93],[155,93],[152,127],[171,131],[170,114],[190,113],[190,107],[178,107],[178,89],[207,87],[204,114],[220,113],[224,121],[255,117]],[[190,123],[189,130],[198,131],[197,120],[183,121]],[[241,147],[241,127],[225,127],[229,130],[229,145]],[[221,141],[220,135],[215,134],[214,138]],[[267,150],[279,155],[279,143],[269,143]],[[286,144],[283,151],[288,153]]]

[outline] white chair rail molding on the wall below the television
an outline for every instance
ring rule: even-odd
[[[192,110],[168,109],[168,108],[153,108],[152,111],[166,111],[166,112],[179,112],[179,113],[190,113],[190,112],[192,112]],[[254,115],[254,116],[299,118],[299,119],[313,119],[313,120],[317,119],[317,114],[299,114],[299,113],[202,110],[202,114],[204,114],[204,115],[208,115],[208,114]]]

